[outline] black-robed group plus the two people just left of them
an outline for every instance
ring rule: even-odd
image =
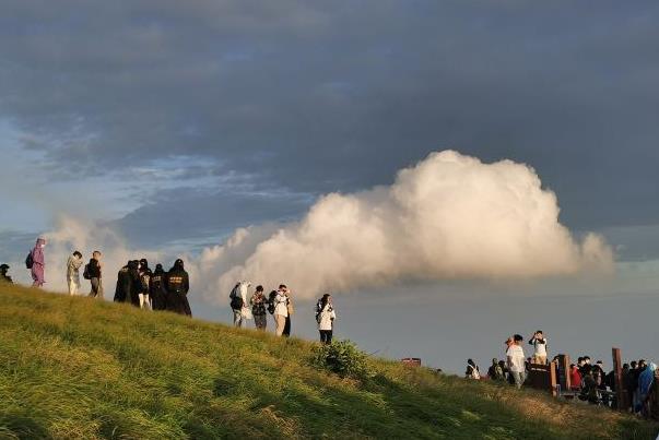
[[[104,298],[102,257],[101,251],[94,251],[83,270],[83,277],[91,284],[89,296],[98,299]],[[69,295],[80,293],[82,264],[80,251],[74,251],[67,261]],[[156,264],[152,271],[146,259],[130,260],[117,274],[114,301],[127,302],[146,310],[169,310],[191,317],[192,311],[187,298],[189,289],[190,281],[183,260],[176,260],[167,272],[162,264]]]

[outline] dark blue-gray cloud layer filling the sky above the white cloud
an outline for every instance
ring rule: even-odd
[[[58,178],[188,155],[314,194],[454,147],[533,165],[569,226],[656,224],[657,19],[650,1],[5,1],[0,118]]]

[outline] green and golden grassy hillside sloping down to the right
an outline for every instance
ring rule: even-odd
[[[0,284],[0,438],[654,439],[585,405],[373,360],[360,382],[314,344]]]

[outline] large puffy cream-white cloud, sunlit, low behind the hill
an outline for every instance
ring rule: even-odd
[[[297,296],[409,280],[534,278],[609,272],[613,253],[558,222],[556,195],[523,164],[455,151],[400,170],[390,187],[320,198],[295,224],[242,228],[195,271],[209,298],[237,280]]]

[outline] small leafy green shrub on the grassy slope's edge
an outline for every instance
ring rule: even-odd
[[[342,378],[363,380],[375,374],[366,354],[350,341],[333,341],[331,344],[314,347],[313,364]]]

